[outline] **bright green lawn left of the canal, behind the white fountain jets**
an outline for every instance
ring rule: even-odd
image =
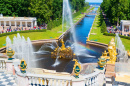
[[[93,9],[93,8],[92,8]],[[79,19],[81,19],[84,16],[84,14],[80,14],[73,18],[73,23],[76,23]],[[31,32],[31,33],[20,33],[21,36],[24,36],[25,39],[29,37],[31,40],[41,40],[41,39],[54,39],[57,36],[60,36],[62,33],[62,25],[59,25],[58,27],[52,28],[52,30],[47,30],[46,32]],[[64,28],[64,32],[66,31],[66,28]],[[11,40],[13,39],[14,36],[17,34],[9,35],[9,38]],[[3,44],[6,43],[6,37],[3,36],[0,37],[0,48],[3,47]]]

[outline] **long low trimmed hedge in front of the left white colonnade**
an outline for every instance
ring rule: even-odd
[[[46,29],[42,29],[42,30],[24,30],[24,31],[15,31],[15,32],[2,33],[2,34],[0,34],[0,37],[7,36],[7,35],[12,35],[12,34],[17,34],[17,33],[30,33],[30,32],[46,32]]]

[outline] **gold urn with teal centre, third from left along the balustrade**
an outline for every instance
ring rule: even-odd
[[[78,63],[77,59],[73,59],[73,61],[75,61],[75,64],[74,64],[74,67],[73,67],[75,78],[79,78],[79,73],[81,71],[81,65]]]

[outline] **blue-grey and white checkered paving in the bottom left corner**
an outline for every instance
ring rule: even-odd
[[[0,86],[17,86],[12,74],[0,72]]]

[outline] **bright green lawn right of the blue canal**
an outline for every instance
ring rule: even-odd
[[[108,44],[109,41],[111,40],[111,38],[114,38],[114,37],[103,35],[103,33],[101,33],[101,31],[100,31],[101,30],[100,27],[98,26],[98,22],[99,22],[99,15],[97,15],[95,17],[95,21],[94,21],[94,24],[93,24],[92,30],[91,30],[91,33],[96,33],[96,35],[90,34],[89,39],[98,40],[98,42]],[[125,49],[130,50],[130,40],[123,39],[123,38],[121,38],[121,40],[125,46]]]

